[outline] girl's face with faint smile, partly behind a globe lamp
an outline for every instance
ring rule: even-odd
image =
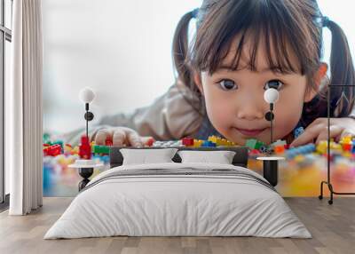
[[[196,83],[204,95],[209,120],[219,133],[237,144],[247,139],[258,139],[270,144],[270,122],[264,115],[270,106],[264,100],[266,83],[280,80],[277,88],[279,100],[274,104],[273,140],[282,139],[296,127],[302,115],[305,101],[311,100],[316,91],[305,94],[306,76],[274,73],[268,68],[263,47],[256,54],[256,71],[248,69],[248,43],[243,47],[238,70],[231,70],[234,53],[229,52],[224,67],[213,75],[201,72]],[[296,58],[293,58],[296,60]]]

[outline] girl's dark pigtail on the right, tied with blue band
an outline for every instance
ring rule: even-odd
[[[332,33],[332,45],[330,53],[330,83],[331,84],[355,84],[355,70],[351,59],[348,40],[334,21],[323,18],[323,26]],[[345,117],[351,113],[354,106],[355,87],[332,88],[332,102],[335,101],[335,117]]]

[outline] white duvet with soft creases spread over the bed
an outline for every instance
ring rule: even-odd
[[[116,167],[92,179],[44,239],[113,235],[312,237],[280,194],[250,179],[218,175],[107,178],[129,170],[184,168],[233,169],[266,181],[246,168],[226,164]]]

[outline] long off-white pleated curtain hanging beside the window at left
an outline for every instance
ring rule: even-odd
[[[42,206],[42,1],[14,0],[8,115],[11,215]]]

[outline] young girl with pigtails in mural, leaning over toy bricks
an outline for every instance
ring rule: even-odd
[[[196,19],[189,44],[188,28]],[[321,62],[322,29],[332,33],[330,79]],[[108,115],[92,131],[97,144],[141,146],[148,139],[207,139],[237,144],[270,143],[264,91],[280,92],[273,136],[291,146],[327,139],[327,83],[354,84],[355,72],[343,30],[319,12],[316,1],[205,0],[177,25],[173,43],[177,82],[150,107]],[[331,92],[330,135],[355,135],[353,87]],[[302,126],[297,139],[293,130]],[[73,133],[75,134],[75,133]],[[76,133],[78,134],[78,133]]]

